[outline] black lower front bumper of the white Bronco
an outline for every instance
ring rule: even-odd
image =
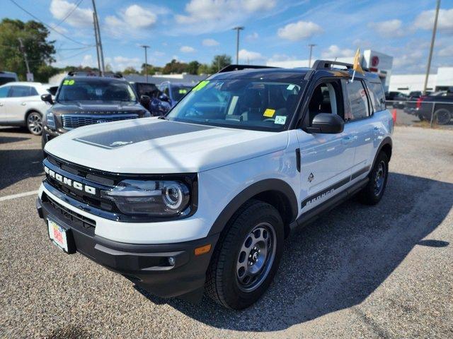
[[[159,297],[183,296],[199,299],[205,285],[205,274],[219,234],[175,244],[125,244],[86,232],[74,218],[51,203],[36,201],[38,215],[47,223],[51,218],[70,230],[76,251],[101,265],[124,275],[139,287]],[[195,256],[197,247],[211,244],[207,254]],[[168,258],[174,258],[171,265]]]

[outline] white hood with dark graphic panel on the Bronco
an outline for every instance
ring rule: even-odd
[[[105,172],[166,174],[202,172],[277,152],[286,132],[249,131],[156,118],[74,129],[45,145],[69,162]]]

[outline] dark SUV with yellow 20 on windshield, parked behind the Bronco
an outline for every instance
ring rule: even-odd
[[[149,97],[137,100],[132,86],[121,76],[96,76],[69,72],[59,85],[55,100],[41,96],[52,107],[43,119],[42,148],[50,139],[77,127],[150,117]]]

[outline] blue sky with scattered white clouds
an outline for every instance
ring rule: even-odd
[[[96,66],[96,49],[86,47],[94,44],[91,0],[15,1],[79,42],[52,32],[55,66]],[[1,2],[4,18],[31,19],[11,1]],[[224,53],[234,58],[231,28],[243,25],[243,63],[308,59],[307,44],[314,43],[314,59],[372,48],[394,56],[394,73],[423,73],[435,0],[96,0],[96,6],[106,63],[115,71],[139,68],[144,61],[140,44],[151,46],[149,64],[157,66],[171,59],[210,63]],[[432,66],[432,71],[453,66],[453,0],[442,0]]]

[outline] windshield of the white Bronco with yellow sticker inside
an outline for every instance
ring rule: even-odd
[[[260,131],[283,131],[297,105],[294,83],[202,81],[166,116],[169,120]]]

